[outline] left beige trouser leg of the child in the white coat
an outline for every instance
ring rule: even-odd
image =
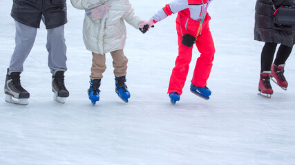
[[[101,79],[106,71],[106,55],[92,53],[91,80]]]

